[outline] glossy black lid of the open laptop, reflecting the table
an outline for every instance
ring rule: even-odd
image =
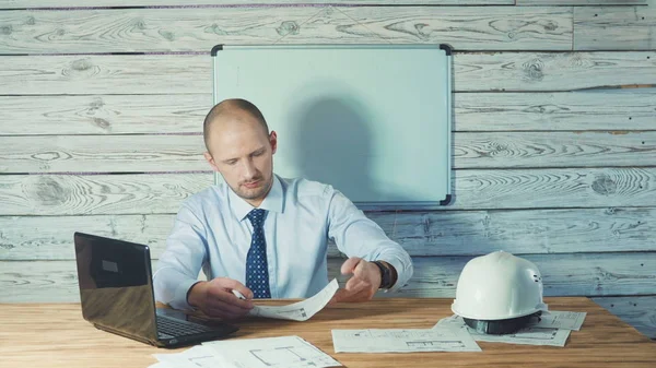
[[[150,249],[75,233],[84,319],[101,328],[156,341]]]

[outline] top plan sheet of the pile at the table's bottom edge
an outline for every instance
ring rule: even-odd
[[[206,342],[220,360],[214,367],[321,368],[341,367],[339,361],[298,336]]]

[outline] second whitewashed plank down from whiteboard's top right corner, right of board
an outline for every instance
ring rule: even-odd
[[[454,112],[457,132],[654,130],[656,88],[456,93]]]

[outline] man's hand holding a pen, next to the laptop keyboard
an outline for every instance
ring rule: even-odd
[[[232,290],[237,290],[246,300],[237,298]],[[253,292],[236,280],[216,277],[194,284],[188,293],[187,301],[209,317],[236,319],[246,316],[253,309]]]

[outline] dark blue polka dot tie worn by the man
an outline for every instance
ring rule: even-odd
[[[265,210],[255,209],[248,213],[253,224],[250,249],[246,257],[246,287],[253,290],[256,299],[271,298],[269,269],[267,266],[267,242],[265,241]]]

